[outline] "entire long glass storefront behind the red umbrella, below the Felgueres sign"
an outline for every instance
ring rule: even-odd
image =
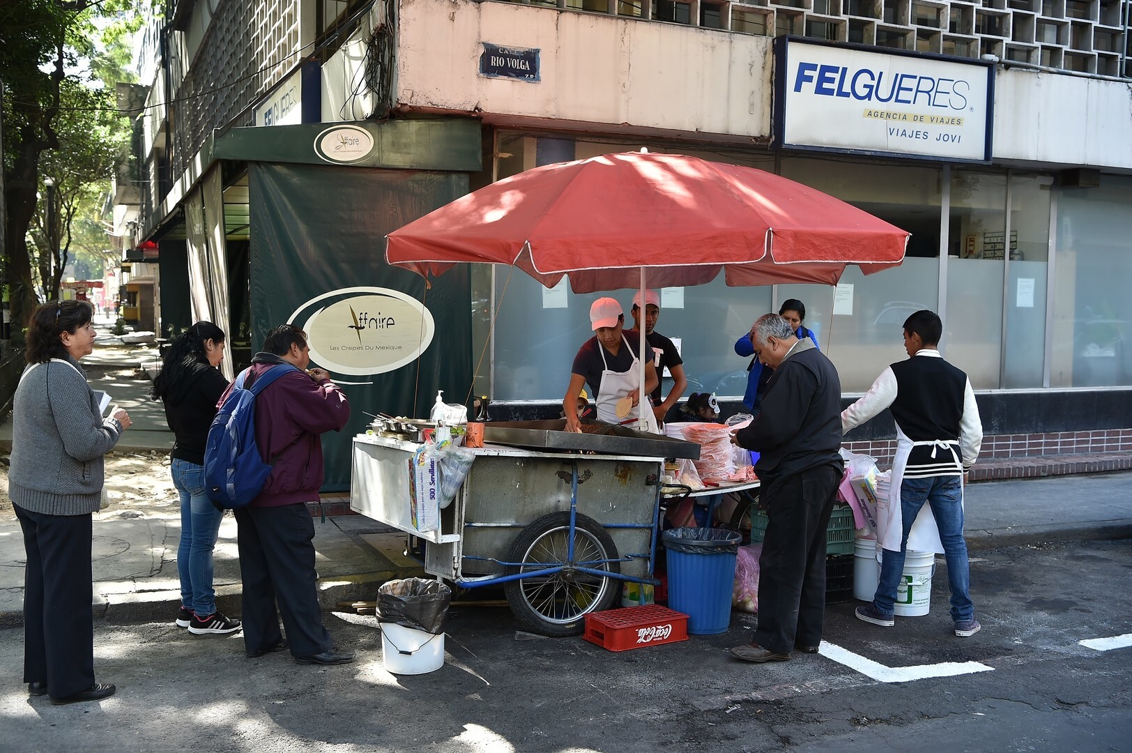
[[[497,177],[641,146],[675,151],[648,143],[500,135]],[[769,155],[681,153],[774,170]],[[1100,188],[1062,188],[1055,205],[1050,174],[835,156],[783,156],[779,170],[908,230],[908,255],[899,267],[868,276],[848,267],[837,314],[834,290],[823,285],[728,288],[720,276],[707,285],[663,291],[657,330],[680,342],[686,394],[740,397],[748,359],[735,354],[735,340],[790,298],[805,303],[806,325],[838,367],[846,393],[864,392],[887,363],[906,358],[901,325],[921,308],[943,313],[944,354],[970,375],[976,390],[1132,384],[1132,348],[1125,346],[1132,336],[1132,297],[1123,284],[1132,279],[1126,250],[1132,179],[1106,176]],[[1057,250],[1050,264],[1054,209]],[[1050,267],[1055,284],[1047,303]],[[560,400],[574,354],[592,334],[589,306],[598,294],[546,291],[508,267],[474,280],[481,319],[477,353],[495,317],[484,358],[491,363],[490,386],[484,366],[477,392],[490,390],[494,400],[503,401]],[[606,293],[621,302],[627,326],[633,292]],[[1048,352],[1047,311],[1054,323]]]

